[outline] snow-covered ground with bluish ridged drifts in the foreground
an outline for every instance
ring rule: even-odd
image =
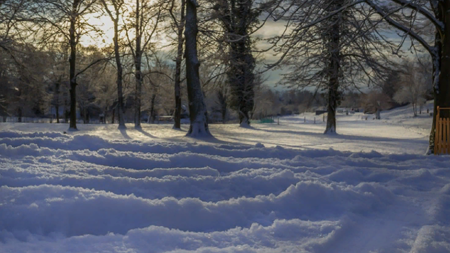
[[[450,252],[450,158],[423,155],[432,118],[409,114],[209,140],[0,123],[0,252]]]

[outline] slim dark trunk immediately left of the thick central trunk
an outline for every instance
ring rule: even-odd
[[[183,28],[185,0],[181,0],[181,18],[178,26],[178,49],[175,60],[175,113],[173,128],[181,128],[181,62],[183,60]]]

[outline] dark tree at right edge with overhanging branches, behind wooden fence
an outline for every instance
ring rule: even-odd
[[[411,38],[412,48],[419,44],[433,62],[434,115],[437,106],[450,107],[450,2],[446,0],[408,1],[389,0],[378,2],[364,0],[392,27],[402,32],[402,42]],[[429,28],[432,29],[429,29]],[[430,30],[435,35],[431,37]],[[401,45],[400,45],[401,46]],[[441,116],[449,118],[448,111]],[[434,153],[436,118],[429,135],[427,154]]]

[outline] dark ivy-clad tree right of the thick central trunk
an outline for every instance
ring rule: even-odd
[[[250,34],[258,25],[262,9],[251,0],[218,0],[213,9],[225,33],[230,108],[238,112],[240,125],[248,126],[255,105],[256,67]]]

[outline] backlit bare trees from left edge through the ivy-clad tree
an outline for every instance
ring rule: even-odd
[[[258,23],[258,14],[242,30],[239,19],[249,16],[231,10],[235,3],[229,3],[231,12],[215,7],[227,5],[226,2],[203,4],[209,7],[203,8],[198,18],[196,1],[0,2],[0,113],[17,115],[20,121],[24,114],[47,114],[51,105],[59,122],[60,108],[64,107],[64,117],[70,122],[70,129],[75,130],[77,110],[85,122],[89,122],[93,111],[105,114],[112,110],[112,115],[117,112],[119,128],[125,128],[131,107],[134,127],[140,128],[142,111],[149,111],[150,121],[154,120],[160,101],[166,113],[173,111],[174,127],[180,128],[182,89],[186,88],[191,122],[188,134],[195,136],[209,134],[204,101],[208,86],[225,83],[233,87],[224,94],[227,106],[240,111],[242,124],[248,124],[256,64],[247,30]],[[247,8],[253,8],[253,4]],[[228,24],[227,18],[234,23]],[[105,41],[107,31],[99,24],[102,20],[113,26],[111,41]],[[236,37],[238,27],[243,33]],[[103,41],[105,46],[86,46],[86,40]],[[250,60],[243,63],[242,57]],[[200,70],[201,61],[216,68]],[[242,68],[247,63],[253,67]],[[225,68],[219,67],[222,65]],[[242,69],[245,73],[240,72]],[[224,81],[222,76],[231,73],[236,75],[235,80],[230,81],[233,77],[229,77]],[[246,76],[245,80],[242,76]],[[174,93],[173,110],[167,108],[168,92]],[[161,94],[165,94],[164,102]],[[240,96],[245,96],[245,100]]]

